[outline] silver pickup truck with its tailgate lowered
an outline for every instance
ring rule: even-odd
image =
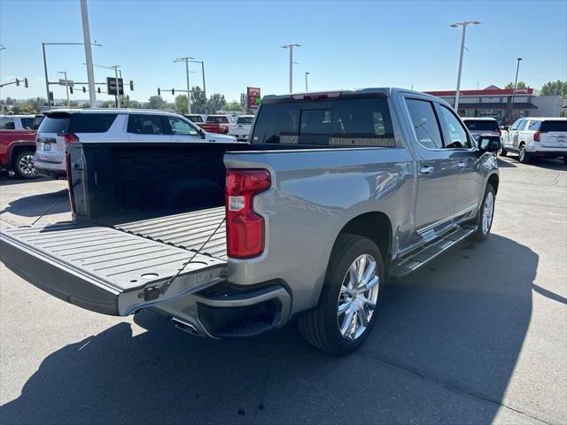
[[[488,236],[498,149],[413,91],[264,97],[250,144],[69,143],[74,220],[4,229],[1,259],[98,313],[151,308],[215,338],[297,317],[345,354],[387,279]]]

